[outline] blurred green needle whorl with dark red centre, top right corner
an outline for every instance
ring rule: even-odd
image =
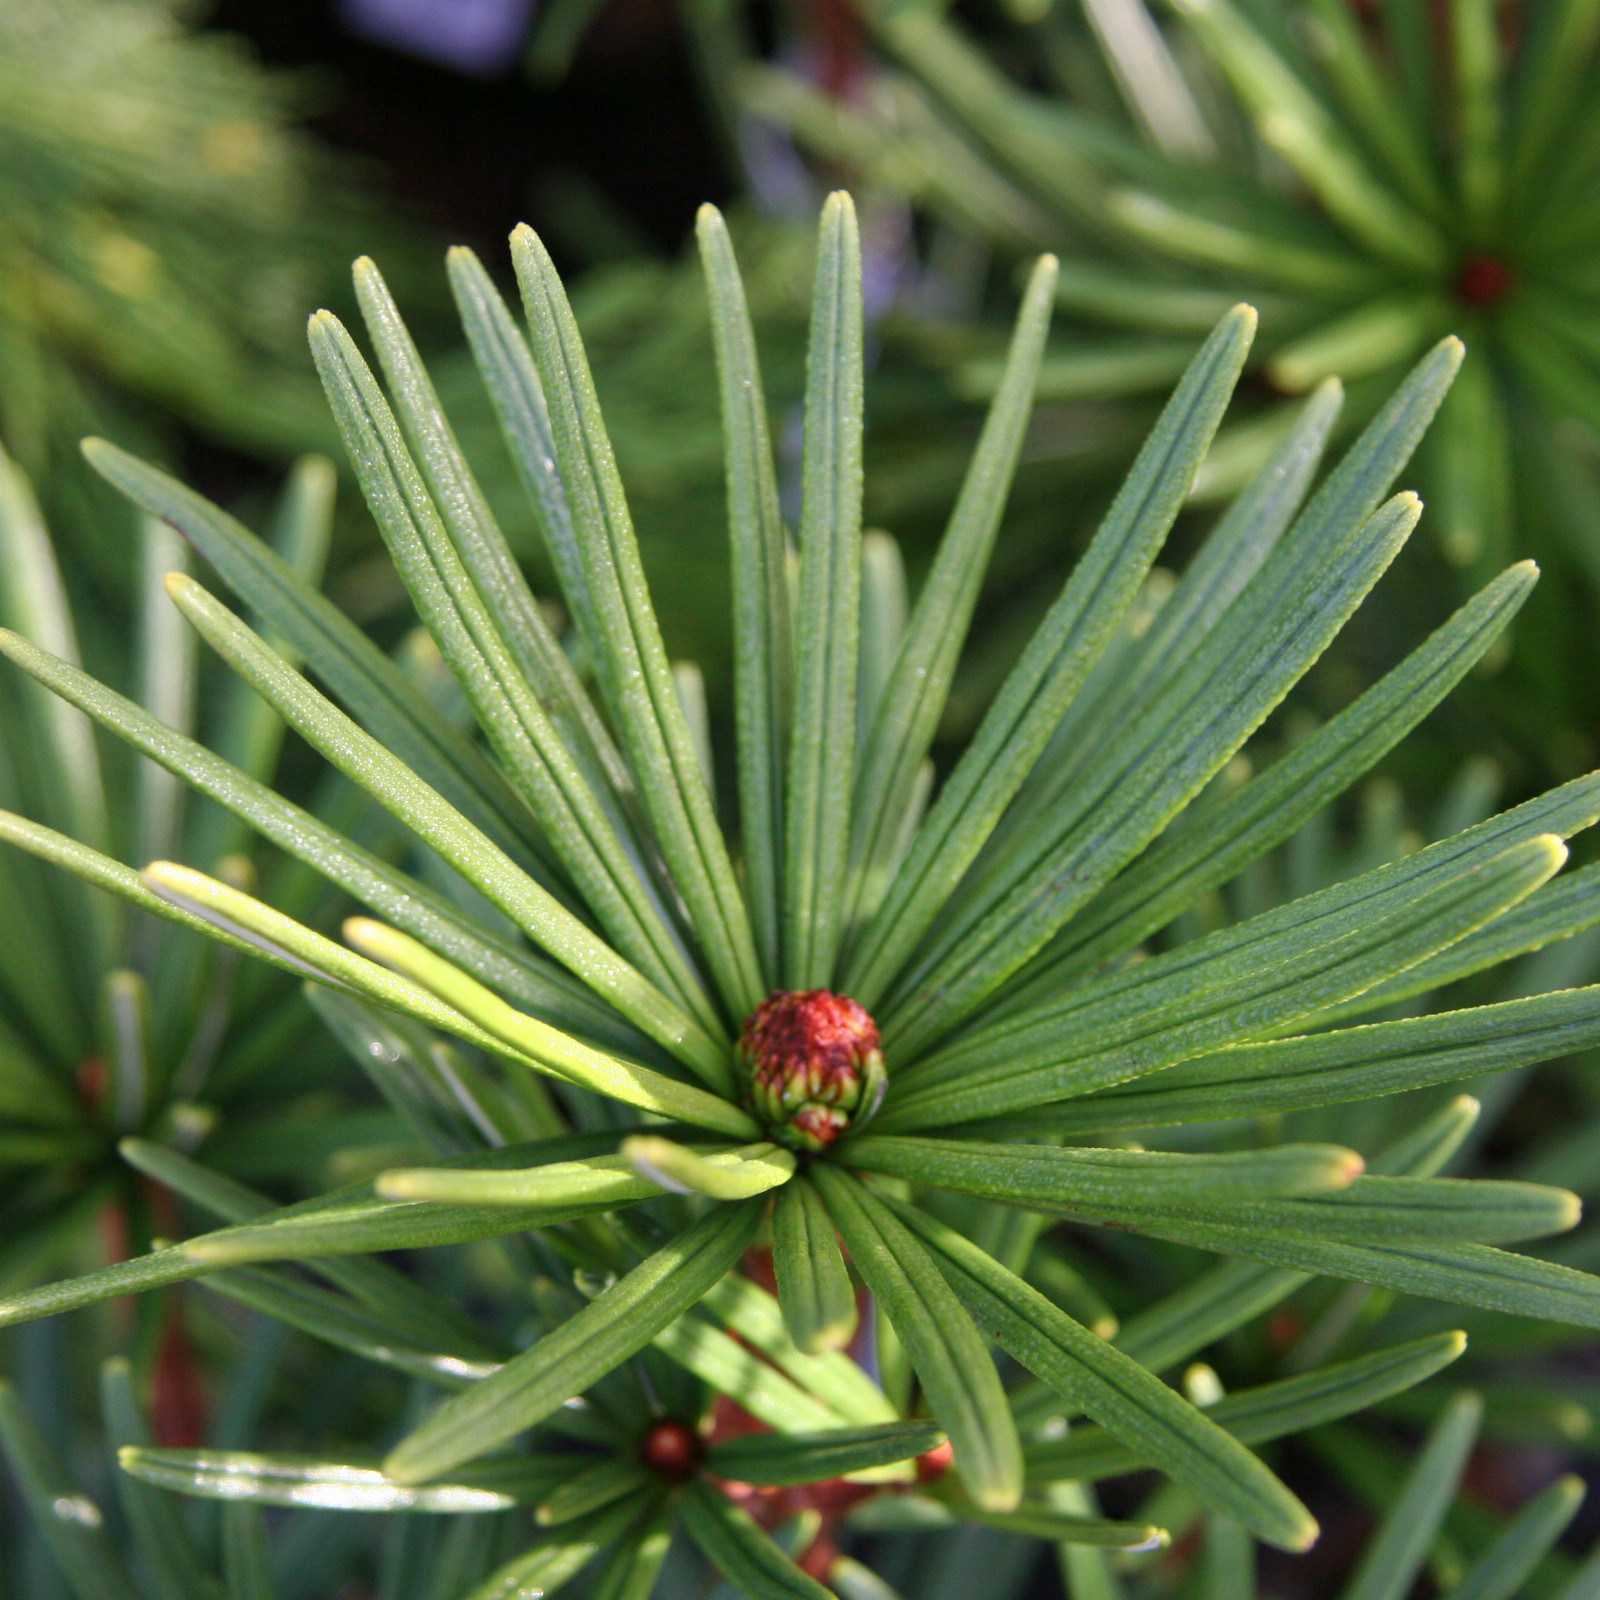
[[[1259,307],[1254,408],[1197,499],[1262,459],[1290,397],[1338,373],[1358,426],[1424,341],[1461,333],[1402,614],[1429,616],[1453,570],[1541,560],[1554,581],[1477,699],[1523,762],[1590,763],[1571,659],[1600,584],[1594,6],[862,3],[850,26],[835,83],[779,53],[746,66],[741,104],[981,242],[1000,283],[1062,251],[1046,397],[1158,395],[1218,309]],[[995,338],[966,325],[936,352],[958,390],[994,381]]]

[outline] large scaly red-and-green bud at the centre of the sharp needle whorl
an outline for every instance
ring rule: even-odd
[[[883,1099],[878,1027],[846,995],[779,989],[750,1013],[739,1050],[750,1107],[790,1149],[824,1149]]]

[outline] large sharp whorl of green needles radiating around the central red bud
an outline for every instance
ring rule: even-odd
[[[1290,757],[1285,773],[1269,770],[1230,795],[1208,792],[1416,525],[1414,496],[1386,496],[1450,387],[1459,344],[1446,339],[1424,357],[1306,499],[1338,403],[1336,390],[1318,392],[1173,587],[1165,614],[1174,621],[1141,632],[1126,626],[1131,608],[1149,589],[1250,347],[1253,312],[1222,315],[920,818],[922,774],[1027,429],[1054,264],[1035,272],[946,542],[893,650],[888,686],[872,715],[861,715],[862,618],[890,608],[864,603],[861,587],[853,206],[835,195],[821,226],[792,616],[781,581],[787,534],[738,269],[714,211],[702,213],[699,234],[728,408],[738,794],[752,808],[741,819],[742,874],[741,835],[717,822],[712,774],[666,658],[576,323],[525,229],[514,256],[530,342],[475,262],[458,253],[451,274],[507,445],[534,488],[597,701],[528,597],[370,262],[358,264],[357,280],[390,397],[326,314],[314,318],[312,342],[397,570],[488,750],[438,717],[237,523],[112,446],[91,446],[107,477],[171,520],[294,642],[333,698],[213,594],[174,578],[170,592],[202,637],[522,938],[504,923],[478,928],[446,896],[411,894],[392,867],[70,664],[0,635],[0,650],[38,682],[384,920],[346,923],[355,954],[173,862],[136,878],[91,845],[21,821],[6,824],[13,842],[310,978],[328,990],[317,1003],[336,1027],[376,1037],[387,1022],[366,1011],[371,1002],[454,1034],[512,1072],[538,1074],[560,1107],[550,1112],[555,1126],[602,1096],[613,1109],[630,1107],[610,1122],[621,1131],[510,1142],[488,1155],[442,1150],[448,1162],[285,1210],[238,1206],[237,1197],[218,1205],[211,1179],[168,1160],[165,1181],[210,1195],[197,1203],[229,1226],[77,1283],[14,1294],[0,1302],[0,1320],[216,1274],[219,1291],[304,1322],[301,1280],[262,1264],[306,1261],[357,1293],[349,1270],[371,1266],[376,1251],[581,1222],[578,1237],[606,1280],[528,1349],[506,1352],[491,1374],[456,1373],[448,1384],[456,1392],[371,1469],[386,1493],[411,1494],[477,1470],[467,1464],[546,1424],[646,1347],[733,1386],[779,1430],[896,1421],[838,1350],[856,1315],[842,1238],[954,1446],[962,1488],[949,1499],[963,1515],[1067,1541],[1160,1536],[1022,1504],[1032,1469],[987,1336],[1102,1429],[1109,1450],[1166,1472],[1256,1536],[1302,1549],[1315,1523],[1246,1448],[1250,1437],[1270,1437],[1261,1424],[1254,1435],[1243,1424],[1219,1426],[1136,1354],[1088,1331],[923,1210],[915,1186],[1034,1218],[1114,1222],[1262,1262],[1285,1282],[1322,1272],[1600,1325],[1600,1282],[1496,1248],[1571,1227],[1571,1195],[1434,1176],[1438,1150],[1459,1142],[1470,1118],[1453,1114],[1445,1133],[1419,1134],[1426,1149],[1371,1176],[1360,1155],[1326,1144],[1243,1152],[1202,1144],[1178,1154],[1062,1146],[1056,1131],[1125,1117],[1120,1107],[1139,1099],[1166,1120],[1186,1120],[1192,1106],[1219,1120],[1248,1117],[1272,1094],[1309,1106],[1398,1093],[1454,1075],[1467,1058],[1486,1072],[1538,1059],[1546,1043],[1573,1048],[1600,1034],[1595,994],[1579,990],[1419,1024],[1285,1037],[1320,1027],[1334,1010],[1350,1016],[1386,1003],[1406,974],[1434,963],[1448,970],[1453,950],[1469,952],[1461,957],[1469,971],[1579,925],[1571,907],[1558,907],[1554,922],[1539,907],[1549,906],[1541,894],[1562,891],[1544,886],[1566,859],[1563,840],[1600,818],[1594,776],[1234,928],[1144,962],[1114,960],[1371,766],[1482,658],[1526,595],[1531,570],[1504,574]],[[890,654],[882,646],[874,640],[874,661]],[[1171,827],[1178,819],[1182,829]],[[1509,918],[1526,922],[1498,936]],[[794,997],[811,1006],[795,1013],[808,1021],[771,1046],[779,1054],[763,1058],[765,1067],[792,1074],[808,1104],[854,1114],[798,1157],[779,1147],[782,1130],[762,1125],[752,1064],[738,1043],[763,998],[797,987],[832,994]],[[835,1035],[805,1030],[824,1013],[850,1034],[842,1056],[829,1053]],[[1418,1027],[1442,1037],[1405,1032]],[[843,1085],[845,1094],[838,1074],[875,1059],[878,1032],[888,1090],[880,1106],[858,1104],[859,1080]],[[131,1149],[130,1160],[152,1157]],[[773,1190],[778,1304],[734,1270]],[[667,1194],[686,1198],[662,1210]],[[645,1202],[654,1208],[622,1210]],[[680,1230],[664,1232],[662,1216]],[[379,1299],[392,1315],[392,1285]],[[346,1347],[386,1347],[382,1317],[373,1320],[382,1307],[341,1309]],[[1208,1315],[1210,1323],[1190,1318],[1189,1331],[1210,1326],[1214,1336],[1237,1325],[1232,1302]],[[749,1352],[712,1318],[773,1365],[757,1363],[752,1376]],[[1170,1331],[1149,1338],[1166,1360],[1178,1358]],[[1331,1368],[1315,1374],[1322,1389],[1275,1397],[1282,1405],[1269,1411],[1344,1414],[1341,1406],[1419,1381],[1459,1347],[1451,1338],[1386,1357],[1378,1371]],[[406,1370],[438,1371],[414,1336],[394,1349],[406,1352]],[[386,1358],[402,1362],[394,1350]],[[130,1461],[146,1474],[158,1469],[142,1456]],[[194,1464],[202,1469],[210,1470]],[[582,1515],[600,1515],[598,1498],[632,1482],[610,1467],[586,1480]],[[659,1547],[656,1518],[677,1502],[734,1581],[763,1595],[813,1592],[699,1480],[651,1499],[616,1560],[659,1562],[650,1554]],[[568,1512],[579,1517],[563,1501],[550,1518]]]

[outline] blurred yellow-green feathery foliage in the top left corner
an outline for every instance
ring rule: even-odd
[[[112,613],[138,541],[78,438],[285,462],[333,437],[306,307],[374,230],[422,296],[421,229],[302,126],[323,96],[166,0],[0,8],[0,437]]]

